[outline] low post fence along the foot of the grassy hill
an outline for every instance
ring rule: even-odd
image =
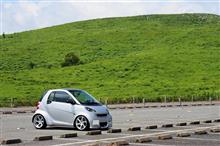
[[[162,97],[156,97],[156,98],[145,98],[145,97],[118,97],[118,98],[97,98],[98,101],[100,101],[102,104],[108,105],[108,104],[121,104],[121,103],[148,103],[148,102],[161,102],[161,103],[167,103],[167,102],[179,102],[180,104],[182,102],[194,102],[194,101],[220,101],[219,96],[210,96],[210,97],[197,97],[197,96],[191,96],[191,97],[184,97],[184,96],[162,96]],[[21,99],[21,98],[2,98],[0,97],[0,107],[17,107],[17,106],[35,106],[38,102],[38,99]]]

